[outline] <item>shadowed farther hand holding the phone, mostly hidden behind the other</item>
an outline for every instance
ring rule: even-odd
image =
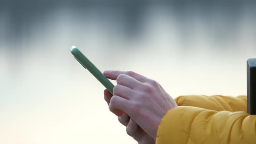
[[[108,105],[112,94],[107,89],[104,91],[104,99]],[[121,112],[123,113],[123,112]],[[118,117],[118,121],[126,127],[126,132],[133,137],[138,144],[155,144],[155,140],[148,135],[138,124],[132,120],[127,114],[123,113]]]

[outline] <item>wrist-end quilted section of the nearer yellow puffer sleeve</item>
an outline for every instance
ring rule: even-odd
[[[194,118],[206,109],[178,106],[164,115],[159,126],[156,144],[188,144]]]

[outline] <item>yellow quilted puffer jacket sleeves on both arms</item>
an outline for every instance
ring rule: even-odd
[[[256,115],[246,113],[246,96],[184,95],[167,111],[156,144],[256,144]]]

